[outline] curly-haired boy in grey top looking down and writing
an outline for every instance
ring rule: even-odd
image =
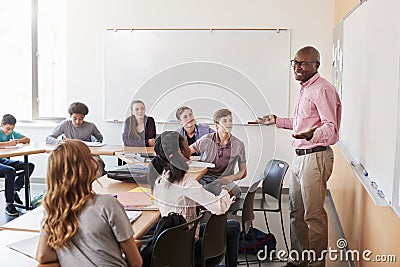
[[[96,125],[84,121],[85,116],[89,113],[89,108],[85,104],[80,102],[72,103],[68,107],[68,113],[71,119],[60,122],[46,137],[46,144],[58,145],[62,141],[58,139],[60,135],[63,135],[63,140],[79,139],[87,142],[92,140],[103,142],[103,135]],[[104,161],[99,156],[95,158],[99,162],[101,174],[104,175],[106,173]]]

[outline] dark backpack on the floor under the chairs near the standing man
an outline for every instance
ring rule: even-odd
[[[254,236],[254,243],[253,243]],[[272,233],[264,233],[263,231],[250,227],[249,232],[244,237],[243,244],[243,232],[240,233],[239,239],[239,252],[244,253],[244,247],[246,247],[247,254],[256,255],[258,251],[265,251],[267,247],[268,255],[272,250],[276,251],[276,238]]]

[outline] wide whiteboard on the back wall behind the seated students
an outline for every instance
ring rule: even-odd
[[[141,99],[158,122],[182,105],[211,121],[226,107],[234,123],[288,115],[289,30],[107,30],[105,119],[122,121]]]

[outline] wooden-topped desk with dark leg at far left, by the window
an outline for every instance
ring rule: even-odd
[[[0,149],[0,158],[17,157],[24,156],[24,183],[25,183],[25,206],[14,204],[17,207],[25,208],[26,210],[31,210],[31,189],[29,181],[29,169],[28,169],[28,155],[44,153],[46,150],[42,145],[37,143],[24,144],[19,148],[6,148]]]

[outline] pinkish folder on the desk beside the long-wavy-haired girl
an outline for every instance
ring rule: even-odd
[[[126,210],[157,210],[146,192],[119,192],[117,199]]]

